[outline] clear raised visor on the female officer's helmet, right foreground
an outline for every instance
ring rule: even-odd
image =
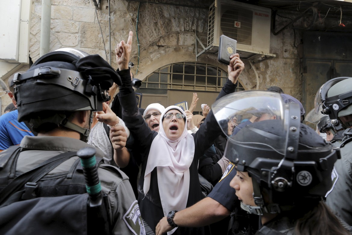
[[[272,158],[275,155],[275,159],[281,160],[288,145],[286,133],[291,127],[284,116],[295,116],[298,122],[300,117],[299,106],[296,105],[297,113],[293,115],[289,105],[284,103],[279,93],[266,91],[236,92],[217,100],[212,109],[222,131],[228,137],[226,157],[238,167],[249,166],[257,157]],[[233,117],[237,117],[239,123],[235,128],[231,123]],[[249,120],[240,123],[243,119]],[[274,121],[279,130],[257,128],[257,124],[261,122],[269,125]],[[278,131],[280,135],[277,135]]]

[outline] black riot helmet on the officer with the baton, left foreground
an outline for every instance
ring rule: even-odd
[[[14,75],[18,119],[29,122],[34,131],[43,123],[65,126],[86,140],[89,129],[69,122],[65,112],[102,110],[113,82],[121,85],[120,76],[99,55],[70,48],[49,52],[27,72]]]

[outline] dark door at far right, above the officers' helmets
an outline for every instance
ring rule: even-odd
[[[352,34],[306,31],[303,34],[302,104],[314,108],[315,94],[326,81],[352,77]]]

